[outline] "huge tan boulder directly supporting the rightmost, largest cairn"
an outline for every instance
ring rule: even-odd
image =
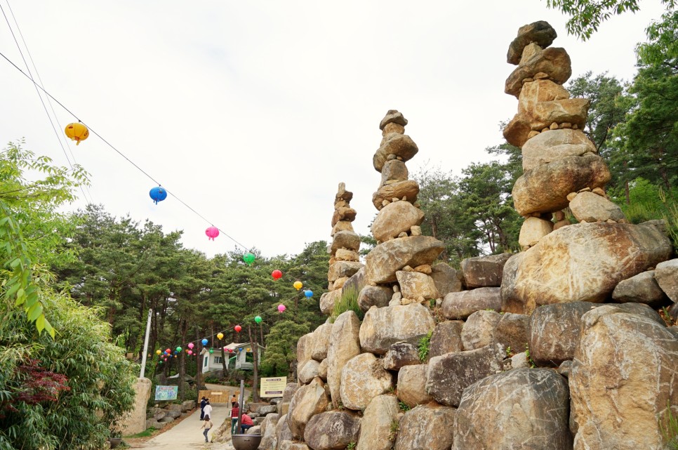
[[[669,239],[652,226],[579,223],[559,228],[508,260],[502,310],[529,314],[539,305],[600,303],[621,280],[654,267],[671,252]]]

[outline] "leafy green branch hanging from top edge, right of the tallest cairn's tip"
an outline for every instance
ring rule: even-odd
[[[661,0],[667,9],[676,6],[675,0]],[[549,8],[557,8],[571,18],[566,29],[583,41],[589,39],[602,22],[613,15],[639,11],[639,0],[546,0]]]

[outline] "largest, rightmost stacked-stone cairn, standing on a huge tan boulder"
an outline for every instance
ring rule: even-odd
[[[523,155],[524,174],[512,193],[526,218],[519,237],[523,250],[569,225],[567,207],[580,222],[625,222],[604,191],[610,171],[582,131],[590,100],[570,98],[562,86],[572,68],[564,48],[549,47],[556,37],[547,22],[534,22],[518,30],[507,53],[507,62],[518,66],[505,84],[505,93],[518,98],[518,113],[504,137]]]

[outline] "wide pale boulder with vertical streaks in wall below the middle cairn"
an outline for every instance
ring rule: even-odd
[[[379,308],[373,306],[366,312],[360,326],[360,347],[375,355],[385,355],[391,345],[399,340],[417,342],[434,327],[431,311],[420,303]]]

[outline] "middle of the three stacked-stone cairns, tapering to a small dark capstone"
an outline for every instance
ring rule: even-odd
[[[358,300],[363,310],[439,298],[430,277],[431,263],[444,246],[421,235],[419,225],[424,213],[417,203],[419,185],[408,179],[405,165],[419,149],[404,134],[406,125],[407,120],[397,110],[387,112],[379,124],[383,139],[372,159],[375,170],[381,173],[378,190],[372,195],[379,213],[371,227],[378,245],[366,258],[366,287]],[[387,295],[389,292],[392,295]]]

